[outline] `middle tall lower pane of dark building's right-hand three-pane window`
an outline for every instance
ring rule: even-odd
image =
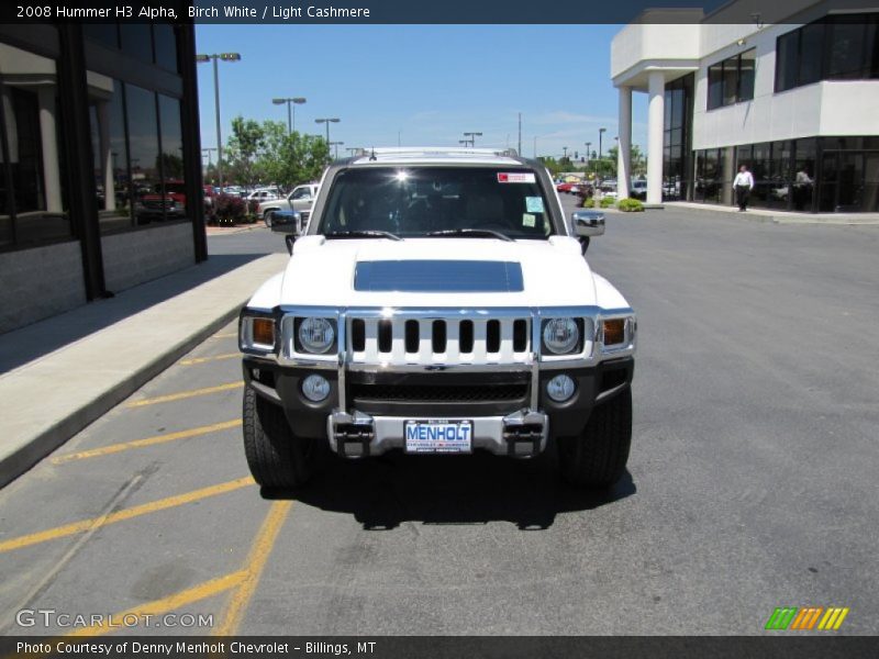
[[[163,193],[159,175],[156,94],[134,85],[126,85],[125,100],[134,219],[137,224],[149,224],[164,220],[165,206],[171,205]]]

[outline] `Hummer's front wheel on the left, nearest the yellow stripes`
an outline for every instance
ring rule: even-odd
[[[254,480],[266,488],[298,488],[311,477],[315,442],[297,437],[283,410],[246,387],[244,455]]]

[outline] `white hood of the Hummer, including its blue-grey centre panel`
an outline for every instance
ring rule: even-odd
[[[596,304],[580,244],[493,238],[296,242],[281,304],[325,306],[579,306]]]

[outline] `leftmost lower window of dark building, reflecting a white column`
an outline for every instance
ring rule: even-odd
[[[73,236],[55,63],[0,44],[0,244]]]

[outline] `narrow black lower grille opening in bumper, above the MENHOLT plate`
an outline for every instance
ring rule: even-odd
[[[479,403],[518,401],[527,395],[527,383],[513,384],[353,384],[355,401]]]

